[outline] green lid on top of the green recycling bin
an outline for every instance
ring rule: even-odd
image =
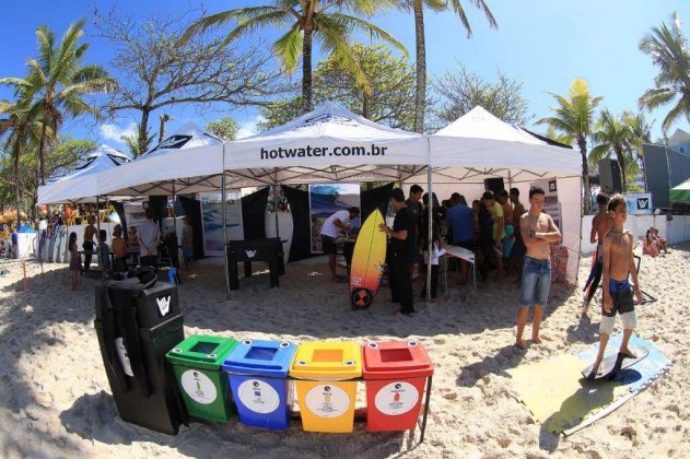
[[[219,370],[227,353],[237,345],[232,338],[192,334],[165,354],[174,364]]]

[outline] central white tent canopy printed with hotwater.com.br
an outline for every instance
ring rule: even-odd
[[[377,125],[335,103],[226,149],[231,188],[401,180],[429,162],[423,136]]]

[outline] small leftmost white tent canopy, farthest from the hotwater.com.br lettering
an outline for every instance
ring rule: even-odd
[[[98,175],[118,168],[130,161],[129,156],[103,144],[71,174],[38,187],[38,203],[95,202],[96,197],[101,195]]]

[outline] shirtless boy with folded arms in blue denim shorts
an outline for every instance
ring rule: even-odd
[[[534,306],[531,340],[540,344],[539,326],[541,313],[549,299],[551,287],[551,259],[549,258],[549,244],[561,240],[561,232],[558,229],[551,216],[542,213],[545,192],[542,188],[533,187],[529,190],[529,212],[519,219],[519,231],[527,247],[525,266],[523,268],[523,282],[519,291],[519,309],[517,311],[517,332],[515,346],[525,349],[523,331],[527,322],[527,308]]]

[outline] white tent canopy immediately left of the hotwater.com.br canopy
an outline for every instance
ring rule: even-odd
[[[102,195],[154,196],[218,191],[223,142],[194,122],[124,166],[101,174]]]

